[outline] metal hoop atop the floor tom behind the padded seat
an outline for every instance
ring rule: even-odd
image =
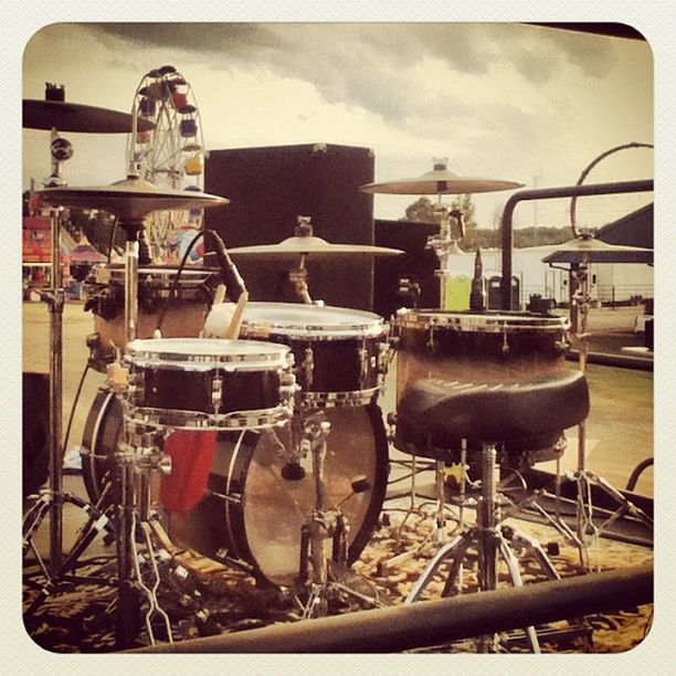
[[[443,313],[411,311],[399,315],[395,323],[401,328],[451,328],[466,332],[495,332],[505,330],[554,332],[570,328],[567,317],[519,317],[509,315],[445,315]]]

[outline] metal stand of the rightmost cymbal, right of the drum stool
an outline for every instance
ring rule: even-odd
[[[574,336],[579,344],[579,367],[587,374],[587,362],[589,356],[588,314],[591,304],[589,293],[589,261],[587,256],[573,271],[575,292],[573,303],[577,305],[577,321]],[[624,515],[643,522],[653,528],[653,519],[642,509],[631,503],[620,490],[612,486],[605,478],[598,476],[587,467],[587,433],[585,423],[582,421],[578,426],[578,464],[574,472],[567,473],[566,477],[577,484],[577,539],[575,543],[580,552],[580,563],[584,569],[590,569],[589,548],[587,538],[591,534],[594,538],[601,536],[603,530]],[[612,497],[619,505],[617,509],[600,526],[593,521],[592,486],[595,486]]]

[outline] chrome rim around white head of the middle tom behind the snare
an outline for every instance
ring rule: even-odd
[[[247,316],[247,313],[255,313],[264,308],[270,308],[273,311],[275,309],[281,311],[289,309],[295,313],[307,311],[308,315],[311,313],[318,314],[323,310],[328,310],[329,314],[338,314],[339,311],[345,313],[346,318],[351,318],[352,321],[331,323],[329,317],[328,321],[304,323],[295,320],[285,323],[275,317],[265,320],[251,317],[251,315]],[[362,321],[359,321],[359,319],[362,319]],[[385,330],[384,319],[376,313],[334,305],[303,305],[297,303],[266,303],[258,300],[246,305],[242,319],[242,335],[249,334],[331,340],[336,339],[336,337],[378,337],[385,332]]]

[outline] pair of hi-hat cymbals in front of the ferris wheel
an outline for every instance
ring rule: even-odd
[[[51,204],[109,211],[120,221],[139,221],[154,211],[208,209],[230,203],[218,194],[158,188],[134,177],[104,187],[45,188],[39,194]]]

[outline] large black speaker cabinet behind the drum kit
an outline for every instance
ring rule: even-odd
[[[204,224],[228,249],[276,244],[294,235],[298,215],[310,216],[314,234],[330,243],[373,244],[373,198],[359,186],[373,181],[368,148],[326,144],[211,150],[204,190],[231,200],[205,210]],[[289,264],[233,258],[250,300],[298,302]],[[297,261],[296,263],[297,264]],[[372,258],[308,258],[313,299],[370,310]]]

